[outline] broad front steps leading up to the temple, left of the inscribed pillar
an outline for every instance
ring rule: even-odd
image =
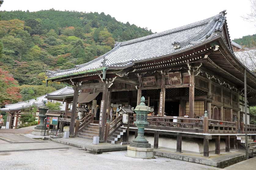
[[[94,136],[99,136],[99,125],[90,124],[76,135],[76,137],[85,139],[93,139]]]

